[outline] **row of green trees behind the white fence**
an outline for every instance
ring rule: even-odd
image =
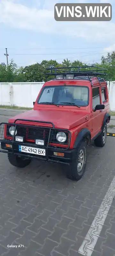
[[[108,81],[115,81],[115,52],[108,53],[106,57],[102,56],[100,63],[92,63],[90,65],[95,65],[101,68],[107,69]],[[5,63],[0,64],[0,82],[45,82],[46,73],[50,73],[50,70],[46,68],[59,68],[67,67],[71,71],[75,71],[78,66],[87,66],[86,63],[82,63],[80,60],[74,60],[71,62],[68,59],[64,59],[62,63],[57,62],[56,60],[42,60],[41,63],[35,63],[33,65],[26,66],[25,68],[18,68],[16,63],[11,60],[9,66],[7,67]],[[92,70],[90,68],[90,70]],[[84,70],[84,68],[81,68]],[[87,68],[85,69],[87,70]],[[52,72],[55,72],[53,70]],[[63,70],[59,70],[63,72]],[[47,81],[54,79],[54,76],[48,75]]]

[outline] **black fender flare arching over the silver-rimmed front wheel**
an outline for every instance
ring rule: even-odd
[[[83,128],[77,135],[77,138],[75,140],[73,148],[77,148],[78,144],[84,140],[84,138],[88,139],[88,145],[90,144],[91,141],[91,133],[87,128]]]

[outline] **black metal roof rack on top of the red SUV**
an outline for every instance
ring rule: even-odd
[[[93,69],[92,69],[93,68]],[[82,69],[82,70],[81,70]],[[85,69],[85,70],[84,70]],[[82,79],[82,76],[88,77],[91,82],[92,76],[107,76],[105,71],[107,69],[100,68],[97,66],[78,66],[78,67],[58,67],[58,68],[46,68],[46,70],[50,70],[49,73],[46,73],[46,76],[56,76],[56,79]],[[80,78],[81,77],[81,78]],[[98,81],[100,77],[97,77]],[[99,82],[100,83],[100,82]]]

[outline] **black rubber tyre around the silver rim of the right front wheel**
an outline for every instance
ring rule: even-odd
[[[75,151],[75,155],[73,156],[73,161],[71,166],[69,166],[67,170],[67,178],[71,180],[80,180],[85,172],[86,168],[86,162],[87,162],[87,143],[84,141],[81,141],[81,143],[78,145]],[[84,162],[82,165],[81,171],[78,171],[77,166],[79,164],[79,154],[80,152],[84,153]]]

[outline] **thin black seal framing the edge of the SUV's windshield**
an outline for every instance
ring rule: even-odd
[[[38,97],[38,99],[37,99],[37,104],[38,105],[52,105],[52,106],[55,106],[55,105],[58,105],[58,106],[69,106],[69,107],[75,107],[76,105],[70,105],[70,104],[58,104],[58,103],[41,103],[41,102],[39,102],[39,100],[40,100],[40,98],[41,98],[41,96],[42,96],[42,93],[43,93],[43,91],[45,90],[45,89],[47,89],[47,88],[54,88],[54,87],[85,87],[85,88],[88,88],[88,104],[87,105],[81,105],[80,107],[87,107],[88,105],[89,105],[89,87],[88,86],[86,86],[86,85],[47,85],[47,86],[44,86],[43,88],[42,88],[42,91],[41,91],[41,93],[40,93],[40,95],[39,95],[39,97]]]

